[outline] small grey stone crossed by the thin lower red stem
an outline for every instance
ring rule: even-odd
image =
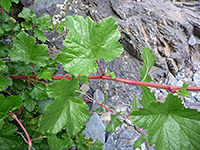
[[[96,89],[96,91],[94,92],[94,100],[100,104],[103,103],[105,99],[105,96],[103,94],[103,92],[99,89]],[[91,111],[95,111],[96,109],[98,109],[100,106],[97,104],[93,104],[92,105],[92,110]]]

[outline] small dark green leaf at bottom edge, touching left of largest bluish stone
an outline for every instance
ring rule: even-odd
[[[79,133],[78,136],[75,137],[75,142],[78,150],[89,150],[89,144],[93,141],[92,138],[86,138],[85,133]]]

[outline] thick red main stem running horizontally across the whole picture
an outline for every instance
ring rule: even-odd
[[[28,79],[27,76],[18,76],[18,75],[10,75],[8,76],[10,78],[18,78],[18,79]],[[37,76],[29,76],[29,78],[38,79]],[[70,80],[71,77],[62,77],[62,76],[52,76],[53,80],[61,80],[61,79],[68,79]],[[128,80],[123,78],[115,78],[107,77],[107,76],[88,76],[88,79],[104,79],[104,80],[112,80],[112,81],[118,81],[128,84],[134,84],[134,85],[141,85],[141,86],[149,86],[149,87],[155,87],[160,89],[166,89],[169,91],[173,90],[180,90],[181,86],[169,86],[169,85],[162,85],[162,84],[156,84],[156,83],[148,83],[148,82],[141,82],[141,81],[135,81],[135,80]],[[200,91],[200,87],[187,87],[187,91]]]

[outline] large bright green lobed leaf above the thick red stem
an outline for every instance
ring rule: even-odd
[[[67,16],[66,28],[69,34],[56,57],[67,72],[75,76],[88,76],[97,71],[96,60],[112,61],[123,52],[118,42],[120,32],[113,17],[106,18],[96,24],[89,17]]]

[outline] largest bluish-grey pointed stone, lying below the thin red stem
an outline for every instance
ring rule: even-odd
[[[106,127],[99,115],[92,114],[84,132],[86,133],[86,137],[91,137],[94,140],[100,140],[102,143],[105,143],[105,129]]]

